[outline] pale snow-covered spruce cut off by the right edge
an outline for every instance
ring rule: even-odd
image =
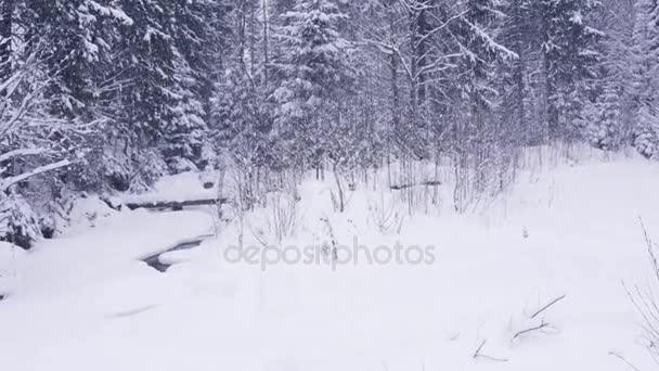
[[[638,0],[634,27],[634,145],[646,157],[659,155],[659,5]]]

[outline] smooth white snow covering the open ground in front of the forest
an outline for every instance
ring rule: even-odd
[[[237,243],[236,222],[217,240],[172,253],[178,264],[166,273],[138,260],[212,231],[203,209],[120,213],[29,254],[0,245],[0,287],[10,293],[0,302],[0,364],[12,371],[630,370],[615,353],[654,370],[621,281],[648,280],[638,216],[659,236],[658,184],[659,166],[639,158],[561,165],[525,174],[476,214],[400,216],[400,232],[374,226],[373,209],[389,202],[382,192],[353,192],[338,215],[332,181],[301,188],[298,232],[285,244],[318,243],[325,218],[340,243],[358,235],[370,248],[432,245],[432,265],[262,270],[230,264],[223,253]],[[270,239],[270,215],[245,218],[246,245]],[[514,338],[542,323],[542,331]]]

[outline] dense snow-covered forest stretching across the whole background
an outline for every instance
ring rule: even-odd
[[[82,192],[228,164],[255,193],[449,158],[458,204],[529,145],[659,155],[655,0],[3,0],[0,17],[0,238],[36,238]]]

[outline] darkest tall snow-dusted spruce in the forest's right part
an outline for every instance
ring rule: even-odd
[[[551,138],[570,139],[591,93],[603,34],[589,25],[593,0],[541,0],[542,51]]]

